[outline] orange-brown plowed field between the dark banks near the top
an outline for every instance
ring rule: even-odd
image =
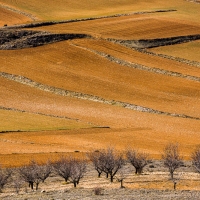
[[[36,28],[56,33],[86,33],[95,37],[121,40],[167,38],[200,33],[200,25],[169,19],[162,15],[142,14]]]

